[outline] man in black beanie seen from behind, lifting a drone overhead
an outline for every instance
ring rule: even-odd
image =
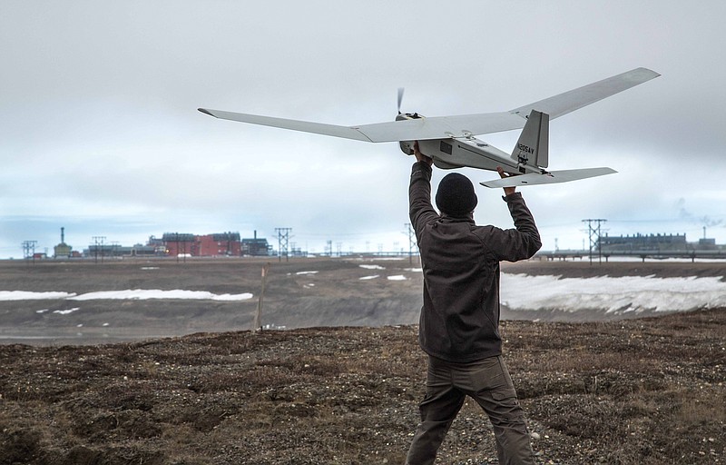
[[[447,174],[431,206],[432,159],[414,144],[409,213],[424,269],[419,343],[428,354],[421,422],[408,465],[432,464],[452,421],[472,397],[494,426],[500,464],[534,464],[525,415],[502,359],[499,262],[532,257],[542,246],[521,193],[505,188],[514,229],[478,226],[477,198],[464,175]],[[499,168],[502,178],[507,175]]]

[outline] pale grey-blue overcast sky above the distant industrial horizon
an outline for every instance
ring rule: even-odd
[[[620,173],[523,189],[544,249],[582,247],[584,218],[726,242],[724,21],[721,0],[5,0],[0,258],[25,240],[52,253],[61,226],[75,250],[164,232],[276,243],[276,227],[316,252],[407,249],[413,159],[396,143],[196,109],[378,123],[404,86],[405,111],[498,112],[638,66],[662,76],[550,124],[551,169]],[[476,185],[476,221],[511,227],[501,191]]]

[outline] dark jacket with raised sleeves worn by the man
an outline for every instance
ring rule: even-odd
[[[504,197],[515,222],[507,230],[477,226],[471,215],[439,215],[426,163],[414,163],[408,198],[424,269],[421,348],[454,362],[500,355],[499,262],[528,259],[542,246],[522,194]]]

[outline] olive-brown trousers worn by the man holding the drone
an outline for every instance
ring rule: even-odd
[[[516,400],[515,387],[502,357],[470,363],[429,357],[426,397],[419,404],[421,422],[408,450],[407,465],[434,463],[466,396],[481,406],[494,426],[500,465],[535,463],[525,413]]]

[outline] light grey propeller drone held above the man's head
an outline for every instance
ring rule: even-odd
[[[358,126],[312,123],[206,108],[199,108],[199,111],[216,118],[241,123],[261,124],[369,143],[397,142],[403,153],[408,155],[414,153],[413,147],[417,141],[420,152],[431,158],[438,168],[450,170],[470,167],[496,171],[497,167],[502,167],[510,176],[481,184],[486,187],[518,187],[566,183],[617,173],[607,167],[547,171],[549,122],[551,119],[594,104],[660,75],[647,68],[635,68],[508,112],[454,116],[426,117],[417,113],[401,113],[403,89],[398,89],[398,114],[395,121]],[[511,154],[475,137],[480,134],[515,129],[522,129],[522,133]]]

